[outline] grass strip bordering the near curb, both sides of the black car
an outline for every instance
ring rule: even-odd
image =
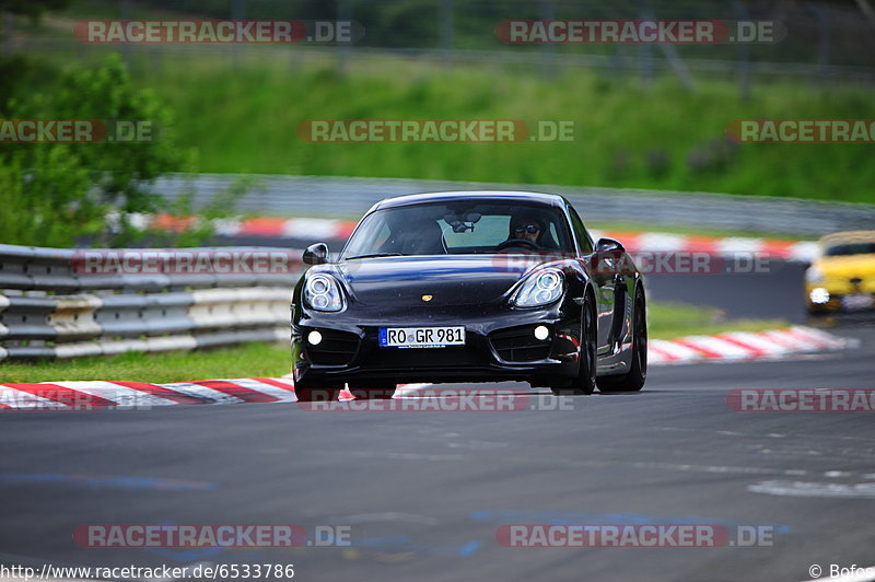
[[[786,327],[786,322],[725,319],[720,310],[679,303],[651,304],[650,337],[669,339],[696,334],[756,331]],[[0,363],[0,383],[121,380],[156,384],[226,377],[276,377],[291,369],[288,346],[249,344],[205,352],[141,353],[38,363]]]

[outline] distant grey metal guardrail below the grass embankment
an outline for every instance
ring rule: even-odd
[[[153,191],[168,199],[192,196],[195,208],[200,208],[243,177],[235,174],[176,174],[159,179]],[[254,214],[358,218],[374,202],[389,196],[499,189],[561,194],[590,223],[638,222],[792,236],[820,236],[836,231],[872,229],[875,224],[875,206],[796,198],[404,178],[245,177],[255,178],[255,186],[238,199],[237,210]]]

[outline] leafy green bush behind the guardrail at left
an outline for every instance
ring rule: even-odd
[[[12,66],[10,66],[12,62]],[[0,67],[13,77],[31,75],[32,63],[16,57]],[[13,84],[14,81],[11,81]],[[149,91],[132,86],[117,56],[97,67],[71,69],[52,91],[15,94],[0,105],[3,117],[16,119],[148,120],[152,141],[118,143],[8,143],[0,148],[3,240],[13,244],[72,246],[81,236],[104,236],[105,217],[158,210],[161,199],[148,186],[161,174],[178,170],[184,152],[171,130],[170,112]],[[124,244],[129,229],[103,244]]]

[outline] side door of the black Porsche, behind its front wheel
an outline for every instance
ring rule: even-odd
[[[614,349],[614,311],[617,304],[617,259],[596,257],[593,240],[583,224],[576,210],[568,206],[571,225],[578,238],[582,267],[590,273],[595,283],[595,296],[598,310],[598,353],[608,353]]]

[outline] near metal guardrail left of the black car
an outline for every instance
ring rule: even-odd
[[[266,264],[257,272],[180,272],[172,260],[180,253],[231,252],[272,253],[287,260],[282,269]],[[112,253],[138,260],[92,272],[83,263],[89,253],[95,259]],[[151,272],[139,260],[143,256],[156,267],[172,268]],[[300,253],[269,247],[73,251],[0,245],[0,361],[288,340],[291,290],[301,271]]]

